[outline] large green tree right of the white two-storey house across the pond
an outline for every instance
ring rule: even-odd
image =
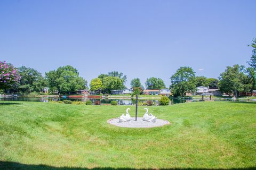
[[[238,64],[233,67],[227,66],[225,72],[220,74],[219,89],[221,92],[228,94],[229,96],[235,94],[239,96],[239,92],[245,90],[244,80],[246,75],[243,72],[244,66]]]

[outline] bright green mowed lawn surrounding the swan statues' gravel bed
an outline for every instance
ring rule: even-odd
[[[256,104],[147,106],[171,124],[107,123],[127,107],[1,101],[0,169],[256,168]]]

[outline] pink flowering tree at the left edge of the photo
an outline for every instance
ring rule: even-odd
[[[12,64],[0,61],[0,89],[6,89],[20,81],[20,75]]]

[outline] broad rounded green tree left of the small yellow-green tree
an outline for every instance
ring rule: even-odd
[[[78,71],[70,65],[59,67],[45,73],[50,91],[58,91],[59,94],[70,94],[79,89],[87,88],[87,81],[79,77]]]

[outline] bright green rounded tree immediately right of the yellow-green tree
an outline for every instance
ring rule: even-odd
[[[103,78],[103,90],[108,94],[111,93],[111,90],[123,89],[123,80],[119,77],[105,77]]]

